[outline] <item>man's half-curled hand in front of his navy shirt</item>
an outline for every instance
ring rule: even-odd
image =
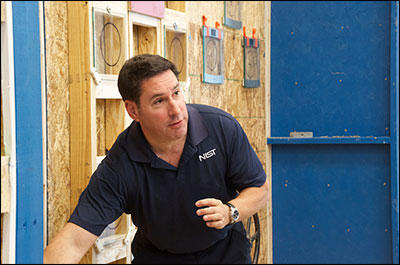
[[[197,207],[205,207],[198,209],[196,214],[203,216],[203,220],[208,227],[222,229],[229,224],[230,209],[229,206],[223,204],[222,201],[213,198],[199,200],[195,203]]]

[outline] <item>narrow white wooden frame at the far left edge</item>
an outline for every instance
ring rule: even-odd
[[[3,199],[9,198],[9,209],[2,209],[1,217],[1,263],[15,263],[16,245],[16,132],[15,132],[15,92],[14,92],[14,40],[12,2],[2,2],[1,22],[1,100],[2,100],[2,122],[4,137],[4,153],[2,156],[2,182],[3,170],[8,172],[5,182],[9,183],[9,194],[3,194]],[[4,9],[3,9],[4,8]],[[4,21],[3,21],[4,20]],[[3,46],[4,44],[4,46]],[[8,158],[6,158],[8,157]],[[5,160],[9,160],[8,163]],[[3,167],[5,167],[3,169]],[[2,189],[3,189],[2,183]],[[5,196],[3,198],[3,196]]]

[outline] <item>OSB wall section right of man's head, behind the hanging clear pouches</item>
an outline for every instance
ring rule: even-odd
[[[189,77],[190,102],[208,104],[231,113],[242,125],[250,144],[267,171],[266,165],[266,53],[265,27],[266,8],[264,1],[241,2],[241,21],[246,27],[246,35],[252,36],[252,28],[256,29],[255,37],[260,40],[260,81],[258,88],[243,87],[243,29],[232,29],[223,26],[224,1],[186,1],[186,13],[189,28]],[[202,82],[203,40],[201,35],[202,16],[206,16],[206,25],[215,27],[220,23],[224,31],[224,83],[212,85]],[[268,171],[267,171],[268,172]],[[270,253],[270,207],[259,212],[261,226],[261,247],[259,263],[271,263]],[[268,221],[267,221],[268,220]]]

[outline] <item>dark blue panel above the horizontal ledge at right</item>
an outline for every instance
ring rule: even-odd
[[[389,136],[389,9],[272,2],[272,137]]]

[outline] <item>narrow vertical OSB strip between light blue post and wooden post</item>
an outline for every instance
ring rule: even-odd
[[[71,209],[67,3],[46,1],[47,239],[64,227]]]

